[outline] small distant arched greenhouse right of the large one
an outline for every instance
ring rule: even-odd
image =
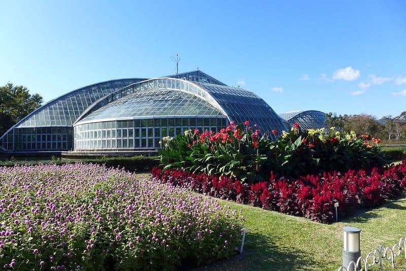
[[[321,111],[292,111],[279,114],[290,126],[299,123],[302,129],[320,129],[325,126],[326,114]]]

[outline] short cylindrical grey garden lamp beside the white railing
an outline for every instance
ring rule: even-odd
[[[343,266],[347,268],[347,271],[355,271],[359,266],[356,266],[356,262],[361,257],[360,250],[360,233],[361,229],[356,227],[344,227],[344,248],[343,248]],[[351,264],[350,262],[354,263]],[[357,267],[357,268],[355,268]]]

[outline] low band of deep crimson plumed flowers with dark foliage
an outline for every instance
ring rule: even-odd
[[[404,191],[406,160],[388,168],[324,173],[291,180],[277,178],[272,173],[268,181],[254,184],[177,169],[153,168],[152,176],[154,180],[206,195],[330,223],[335,220],[334,202],[339,202],[339,214],[343,217],[361,207],[381,205]]]

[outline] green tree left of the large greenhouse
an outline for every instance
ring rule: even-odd
[[[20,119],[39,108],[43,98],[29,94],[24,86],[7,83],[0,86],[0,136]]]

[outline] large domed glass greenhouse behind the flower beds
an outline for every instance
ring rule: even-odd
[[[71,91],[35,110],[0,138],[7,152],[131,151],[160,148],[186,129],[217,131],[250,120],[263,131],[284,121],[251,91],[193,71],[121,79]],[[273,137],[273,135],[271,134]]]

